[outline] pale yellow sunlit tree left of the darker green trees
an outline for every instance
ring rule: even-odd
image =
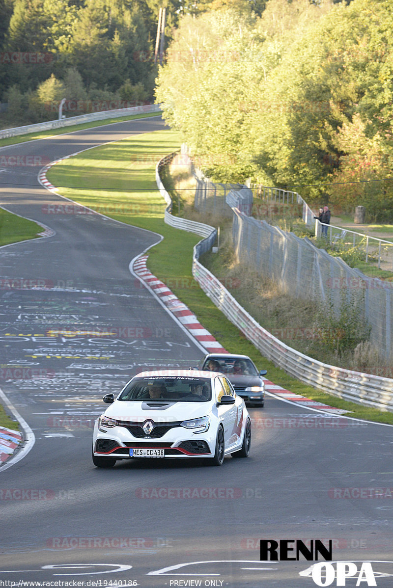
[[[239,105],[264,77],[255,22],[235,10],[185,16],[159,68],[156,98],[166,121],[181,129],[194,153],[216,162],[217,177],[250,173]]]

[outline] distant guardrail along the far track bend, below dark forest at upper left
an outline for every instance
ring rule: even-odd
[[[80,116],[70,116],[60,121],[38,122],[35,125],[16,126],[12,129],[0,131],[0,139],[8,139],[19,135],[27,135],[37,131],[48,131],[50,129],[62,128],[64,126],[80,125],[82,122],[104,121],[107,118],[118,118],[140,113],[161,112],[158,104],[144,104],[131,106],[131,108],[118,108],[112,111],[91,112]]]

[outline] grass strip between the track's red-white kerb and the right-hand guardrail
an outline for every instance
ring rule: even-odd
[[[66,159],[51,168],[48,179],[67,198],[99,212],[106,207],[106,214],[111,218],[161,233],[164,240],[150,250],[149,269],[189,306],[229,352],[249,355],[259,368],[268,370],[269,379],[294,393],[351,411],[351,416],[360,419],[393,423],[392,413],[319,392],[276,368],[199,288],[191,273],[192,247],[199,237],[165,225],[165,205],[154,179],[155,157],[175,151],[180,142],[175,131],[156,131],[127,138]],[[116,210],[119,212],[111,212]]]

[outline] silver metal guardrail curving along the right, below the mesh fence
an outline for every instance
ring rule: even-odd
[[[159,164],[158,164],[159,165]],[[159,178],[158,166],[156,168],[156,179],[159,191],[165,198],[165,202],[171,201],[171,196],[165,191]],[[165,192],[165,195],[164,195]],[[232,201],[233,203],[233,201]],[[171,205],[168,205],[168,208]],[[165,211],[165,215],[168,212]],[[232,206],[235,216],[242,215],[239,209]],[[168,212],[168,216],[171,216]],[[172,217],[174,219],[176,217]],[[168,219],[169,220],[169,219]],[[165,222],[168,222],[165,216]],[[181,222],[182,221],[182,222]],[[188,221],[191,222],[191,221]],[[177,228],[182,228],[184,219],[177,219]],[[198,229],[197,223],[192,221],[195,229]],[[169,222],[172,224],[172,221]],[[204,231],[208,225],[202,225]],[[211,227],[212,231],[213,229]],[[191,228],[185,230],[192,230]],[[202,230],[194,230],[201,235]],[[215,238],[215,236],[214,236]],[[341,397],[344,400],[351,400],[358,404],[373,406],[381,410],[393,411],[393,379],[388,377],[374,376],[367,373],[355,372],[344,368],[327,365],[318,360],[309,358],[296,349],[288,347],[274,335],[264,329],[249,313],[242,308],[237,300],[228,292],[222,283],[199,262],[199,255],[206,252],[214,243],[212,233],[207,239],[203,239],[194,247],[192,261],[192,275],[199,283],[202,290],[211,298],[217,308],[251,341],[253,345],[278,368],[283,369],[289,375],[295,377],[301,382],[307,383],[319,390],[328,392],[334,396]]]

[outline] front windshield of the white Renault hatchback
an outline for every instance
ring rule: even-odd
[[[211,400],[209,378],[141,377],[129,382],[118,400],[169,400],[171,402],[207,402]]]

